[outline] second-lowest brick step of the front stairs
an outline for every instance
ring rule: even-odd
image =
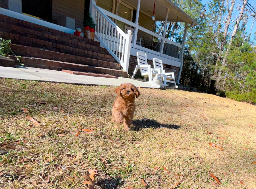
[[[95,60],[91,58],[85,58],[81,56],[59,53],[54,51],[49,51],[41,48],[28,47],[24,45],[10,44],[10,47],[15,55],[21,56],[30,56],[35,58],[43,58],[48,60],[56,60],[62,62],[69,62],[75,64],[82,64],[88,66],[98,66],[104,68],[111,68],[115,70],[120,70],[120,64],[103,61],[103,60]]]

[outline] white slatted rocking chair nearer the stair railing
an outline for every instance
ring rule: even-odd
[[[140,70],[141,75],[144,76],[144,82],[146,82],[146,79],[149,78],[149,81],[146,83],[149,83],[155,87],[167,86],[167,84],[162,83],[163,76],[160,74],[160,68],[151,68],[151,66],[148,65],[147,54],[143,53],[142,51],[138,51],[137,62],[138,65],[135,67],[135,70],[132,74],[132,79],[134,79],[137,71]]]

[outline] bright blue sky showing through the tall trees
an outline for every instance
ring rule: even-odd
[[[210,2],[208,0],[202,0],[202,3],[203,4],[207,4],[207,2]],[[256,0],[248,0],[248,3],[251,4],[252,6],[254,6],[254,8],[256,9]],[[232,20],[235,20],[235,17],[239,15],[239,12],[240,10],[238,10],[238,6],[240,5],[240,8],[242,7],[242,0],[236,0],[236,3],[235,3],[235,7],[234,7],[234,10],[233,10],[233,13],[232,13],[232,17],[231,17],[231,21]],[[229,7],[230,7],[231,3],[230,3],[230,0],[229,0]],[[226,6],[226,0],[225,0],[225,6]],[[208,7],[206,7],[206,10],[207,11],[210,11],[208,9]],[[244,12],[245,13],[245,12]],[[226,14],[227,15],[227,14]],[[249,14],[247,14],[249,15]],[[253,17],[251,16],[248,20],[248,23],[247,23],[247,29],[246,29],[246,32],[248,33],[247,36],[249,35],[250,33],[250,30],[251,30],[251,26],[252,26],[252,23],[253,23]],[[241,22],[240,24],[241,25]],[[233,32],[233,28],[234,28],[234,22],[231,23],[229,25],[229,33],[232,33]],[[253,40],[254,37],[256,37],[255,35],[255,32],[256,32],[256,20],[254,21],[254,25],[253,25],[253,29],[252,29],[252,35],[251,35],[251,40]]]

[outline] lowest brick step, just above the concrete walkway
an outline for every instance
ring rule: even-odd
[[[19,65],[19,62],[15,59],[16,65]],[[114,75],[116,77],[127,77],[127,72],[122,70],[115,70],[110,68],[103,68],[97,66],[88,66],[82,64],[74,64],[69,62],[61,62],[56,60],[48,60],[42,58],[33,58],[21,56],[21,63],[28,67],[36,67],[36,68],[45,68],[49,70],[72,70],[79,72],[92,72],[92,73],[102,73]]]

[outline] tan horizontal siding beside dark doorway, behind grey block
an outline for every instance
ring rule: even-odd
[[[75,19],[75,27],[83,28],[85,0],[53,0],[53,23],[59,15]]]

